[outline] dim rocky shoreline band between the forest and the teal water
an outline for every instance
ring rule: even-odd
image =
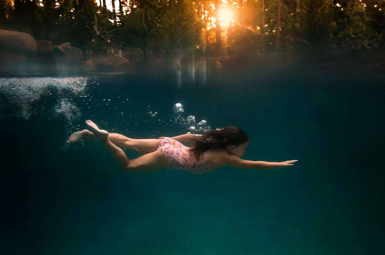
[[[160,74],[242,72],[277,70],[339,71],[357,68],[385,71],[384,49],[365,51],[326,52],[309,58],[295,53],[270,53],[247,56],[217,56],[194,59],[183,55],[180,58],[159,59],[144,57],[141,49],[133,48],[123,58],[111,59],[106,55],[87,55],[69,42],[53,45],[51,41],[39,41],[27,33],[0,30],[0,77],[12,76],[71,76],[95,74]]]

